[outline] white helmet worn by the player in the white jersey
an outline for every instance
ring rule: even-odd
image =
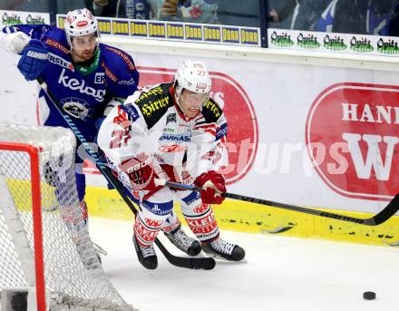
[[[184,89],[190,92],[204,94],[204,102],[209,100],[209,92],[212,82],[205,64],[199,61],[186,60],[180,63],[175,73],[174,88],[175,99],[180,105],[180,95]]]

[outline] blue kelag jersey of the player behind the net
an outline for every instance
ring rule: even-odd
[[[75,125],[87,141],[93,141],[107,103],[112,98],[126,98],[136,91],[139,73],[131,56],[107,44],[99,44],[94,60],[88,67],[73,63],[65,33],[57,27],[39,24],[16,24],[13,32],[21,31],[40,40],[49,51],[41,78],[47,88],[73,117]],[[10,31],[3,29],[4,33]],[[47,95],[42,91],[50,114],[44,125],[68,127]]]

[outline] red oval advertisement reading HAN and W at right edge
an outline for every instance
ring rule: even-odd
[[[326,184],[346,197],[399,192],[399,87],[338,83],[307,116],[307,150]]]

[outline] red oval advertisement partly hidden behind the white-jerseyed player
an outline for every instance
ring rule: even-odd
[[[138,67],[140,84],[151,85],[171,82],[175,70]],[[222,170],[226,183],[243,178],[253,161],[258,146],[258,122],[247,93],[231,77],[223,73],[210,73],[210,97],[218,102],[229,123],[229,167]],[[210,107],[211,108],[211,107]],[[217,113],[217,111],[215,111]]]

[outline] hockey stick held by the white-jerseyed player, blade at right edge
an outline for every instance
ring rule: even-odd
[[[200,191],[200,188],[191,186],[191,185],[184,185],[178,182],[172,182],[172,181],[167,181],[167,180],[155,180],[155,184],[162,185],[162,186],[169,186],[171,188],[175,189],[180,189],[180,190],[194,190],[194,191]],[[356,219],[354,217],[349,217],[345,215],[340,215],[336,213],[331,213],[328,211],[323,211],[323,210],[318,210],[318,209],[307,209],[307,208],[302,208],[296,205],[291,205],[291,204],[286,204],[286,203],[279,203],[275,201],[271,201],[268,199],[257,199],[257,198],[251,198],[247,196],[243,196],[240,194],[234,194],[234,193],[225,193],[225,197],[229,199],[239,199],[242,201],[246,202],[252,202],[252,203],[258,203],[262,205],[268,205],[270,207],[275,207],[278,209],[288,209],[288,210],[294,210],[300,213],[305,213],[305,214],[311,214],[315,216],[320,216],[320,217],[326,217],[328,219],[337,219],[337,220],[342,220],[342,221],[347,221],[347,222],[355,222],[356,224],[361,224],[365,226],[377,226],[382,224],[384,221],[390,219],[392,216],[394,216],[394,213],[396,213],[399,210],[399,194],[397,194],[394,199],[392,199],[391,202],[388,203],[388,205],[381,210],[378,214],[373,216],[370,219]]]

